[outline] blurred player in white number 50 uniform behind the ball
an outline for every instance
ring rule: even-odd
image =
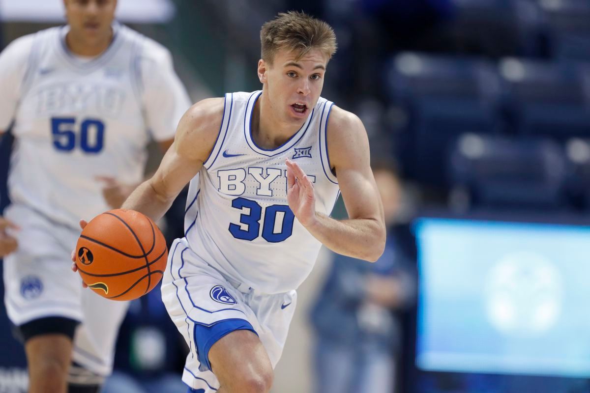
[[[190,106],[167,49],[113,22],[116,0],[64,6],[67,26],[0,54],[0,133],[14,121],[16,140],[0,257],[31,393],[96,392],[110,373],[127,305],[81,293],[69,270],[78,218],[139,184],[146,144],[154,138],[166,149]]]

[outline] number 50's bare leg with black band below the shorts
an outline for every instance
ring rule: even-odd
[[[19,326],[24,338],[29,374],[29,393],[67,391],[72,338],[77,321],[41,318]]]

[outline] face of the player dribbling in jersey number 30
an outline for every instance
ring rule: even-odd
[[[273,64],[263,67],[264,77],[261,77],[273,110],[287,121],[301,121],[309,116],[322,93],[329,60],[320,49],[312,49],[299,59],[298,55],[280,49],[274,55]],[[258,70],[262,71],[260,64]]]

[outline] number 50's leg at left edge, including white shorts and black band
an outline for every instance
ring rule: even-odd
[[[28,207],[11,205],[5,213],[21,227],[17,251],[4,259],[6,311],[24,338],[32,387],[40,379],[43,391],[61,392],[47,386],[71,379],[77,325],[84,319],[81,279],[69,270],[71,245],[79,232],[49,222]],[[55,339],[56,333],[60,338]],[[45,372],[49,367],[55,372]],[[76,393],[71,385],[68,391]],[[93,391],[97,388],[79,392]]]

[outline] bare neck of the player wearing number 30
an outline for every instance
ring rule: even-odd
[[[277,118],[276,112],[272,110],[265,92],[254,105],[252,112],[252,137],[254,142],[262,147],[274,149],[284,144],[290,137],[299,131],[305,120],[297,125],[286,123]]]

